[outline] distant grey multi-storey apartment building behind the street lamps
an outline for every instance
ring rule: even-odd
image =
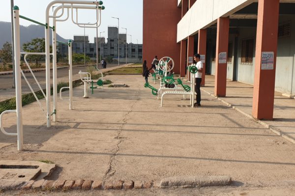
[[[108,38],[107,42],[104,37],[98,37],[97,40],[98,56],[101,55],[101,58],[111,57],[115,60],[118,59],[118,27],[109,26],[108,27]],[[85,43],[85,47],[84,47]],[[68,47],[65,45],[59,45],[59,54],[63,57],[68,55]],[[93,43],[89,43],[89,36],[74,36],[72,43],[72,52],[73,53],[85,53],[91,59],[96,59],[96,37],[94,37]],[[119,34],[119,57],[120,62],[126,61],[127,63],[137,63],[142,62],[143,56],[143,45],[142,44],[133,44],[126,42],[126,34]],[[126,55],[127,54],[127,55]]]

